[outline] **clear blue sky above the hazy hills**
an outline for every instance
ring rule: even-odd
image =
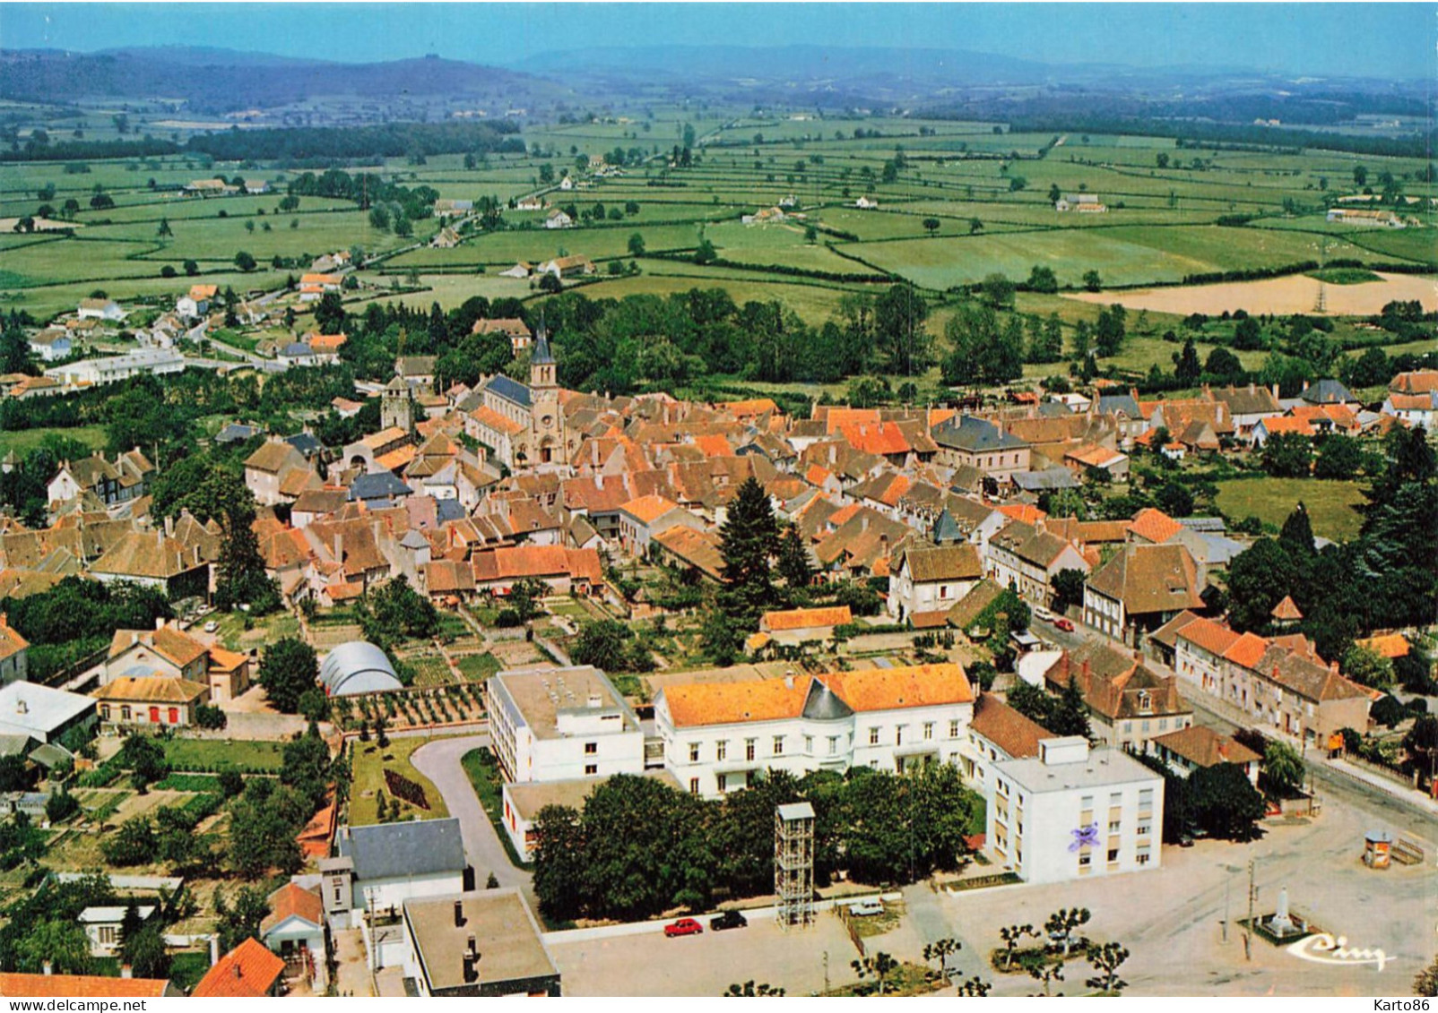
[[[439,53],[513,66],[590,45],[807,42],[1424,78],[1434,72],[1435,20],[1431,3],[0,3],[0,46],[223,46],[347,62]]]

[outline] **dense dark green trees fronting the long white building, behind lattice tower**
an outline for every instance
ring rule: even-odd
[[[774,889],[774,810],[814,806],[814,879],[915,882],[956,868],[984,803],[948,763],[909,773],[856,767],[795,779],[768,772],[723,799],[615,774],[582,810],[545,806],[535,819],[535,894],[549,921],[637,920],[702,911]]]

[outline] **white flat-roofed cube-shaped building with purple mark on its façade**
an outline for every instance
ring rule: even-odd
[[[985,772],[984,849],[1027,882],[1156,869],[1163,777],[1081,736],[1044,739],[1038,754]]]

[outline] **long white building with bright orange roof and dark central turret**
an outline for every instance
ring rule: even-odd
[[[956,664],[664,687],[654,730],[664,767],[706,797],[766,770],[903,770],[958,759],[974,690]]]

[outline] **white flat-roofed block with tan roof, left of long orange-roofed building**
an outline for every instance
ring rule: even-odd
[[[489,736],[505,780],[548,782],[644,772],[644,730],[592,665],[492,675]]]

